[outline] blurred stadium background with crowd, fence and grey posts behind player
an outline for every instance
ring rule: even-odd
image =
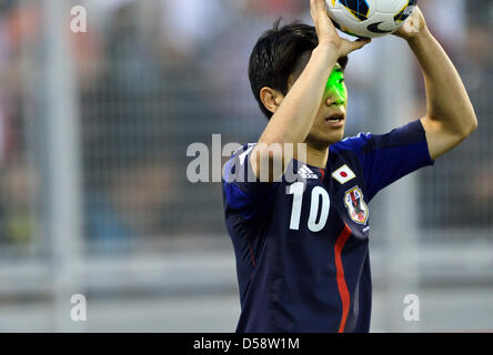
[[[85,7],[88,32],[70,31]],[[304,0],[0,2],[0,332],[233,332],[240,313],[221,186],[187,148],[253,142],[247,65]],[[493,0],[422,0],[480,129],[382,192],[372,211],[373,332],[493,331]],[[348,134],[424,113],[395,38],[351,55]],[[72,294],[88,321],[70,318]],[[420,297],[420,322],[403,318]]]

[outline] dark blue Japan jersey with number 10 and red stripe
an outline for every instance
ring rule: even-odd
[[[232,156],[222,184],[241,298],[237,332],[369,332],[368,205],[383,187],[433,164],[421,122],[333,144],[325,169],[293,160],[296,182],[232,181],[251,172],[253,148]]]

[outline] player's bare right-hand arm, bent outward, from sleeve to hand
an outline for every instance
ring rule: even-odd
[[[454,64],[430,33],[419,8],[395,34],[408,41],[423,70],[427,112],[421,122],[435,160],[477,128],[476,115]]]

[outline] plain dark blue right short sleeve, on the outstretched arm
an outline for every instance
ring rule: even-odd
[[[361,164],[368,201],[399,179],[434,162],[420,120],[386,134],[350,138],[339,149],[352,150]]]

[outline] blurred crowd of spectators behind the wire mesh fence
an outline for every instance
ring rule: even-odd
[[[425,225],[491,226],[493,0],[422,1],[429,26],[456,62],[480,130],[422,178]],[[0,241],[36,235],[42,186],[29,125],[42,70],[42,1],[0,6]],[[76,2],[73,3],[76,4]],[[265,124],[247,68],[258,37],[283,17],[309,21],[304,0],[85,0],[88,32],[70,33],[81,118],[84,235],[100,245],[135,237],[224,233],[220,189],[187,181],[187,146],[254,141]],[[67,21],[70,21],[68,13]],[[67,27],[69,29],[69,27]],[[370,47],[369,47],[370,48]],[[350,134],[372,120],[376,49],[350,63]],[[420,95],[422,83],[416,68]],[[366,98],[366,99],[365,99]],[[460,163],[457,163],[460,162]],[[469,176],[464,176],[464,171]],[[467,213],[464,212],[464,205]],[[110,244],[108,244],[110,243]],[[123,245],[123,244],[122,244]]]

